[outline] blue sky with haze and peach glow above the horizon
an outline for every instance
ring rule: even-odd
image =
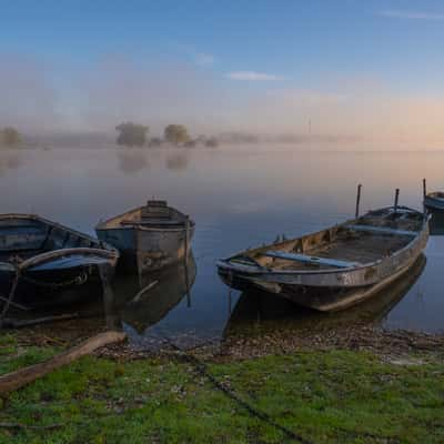
[[[444,145],[444,2],[0,0],[0,127]]]

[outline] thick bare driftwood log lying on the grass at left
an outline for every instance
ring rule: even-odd
[[[27,385],[81,356],[90,354],[101,346],[123,341],[125,337],[127,334],[123,332],[109,331],[99,333],[46,362],[2,375],[0,376],[0,395],[21,389],[23,385]]]

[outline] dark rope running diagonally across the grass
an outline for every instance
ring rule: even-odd
[[[242,400],[239,395],[236,395],[233,391],[226,389],[221,382],[219,382],[211,373],[208,372],[205,364],[198,360],[195,356],[188,354],[183,349],[179,347],[173,341],[171,341],[168,336],[162,335],[162,337],[176,351],[179,351],[185,361],[194,366],[194,369],[203,376],[205,376],[215,389],[220,390],[224,393],[228,397],[235,401],[239,405],[241,405],[244,410],[246,410],[251,415],[258,417],[259,420],[272,425],[273,427],[278,428],[289,438],[296,441],[302,444],[312,444],[311,441],[305,440],[303,436],[294,433],[290,428],[278,424],[268,413],[261,412],[260,410],[253,407],[246,401]]]

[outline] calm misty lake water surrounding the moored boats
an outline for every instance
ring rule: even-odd
[[[101,218],[152,196],[167,199],[196,222],[195,281],[186,297],[184,283],[174,284],[182,279],[180,271],[162,278],[159,295],[176,285],[170,292],[175,294],[170,296],[170,306],[158,310],[163,319],[149,329],[155,322],[149,320],[150,313],[155,310],[148,303],[143,309],[147,325],[143,310],[133,310],[139,320],[130,319],[125,325],[140,343],[157,332],[209,339],[226,331],[230,316],[232,324],[259,313],[256,300],[240,299],[236,292],[229,297],[215,272],[218,258],[273,241],[278,234],[296,236],[352,216],[357,183],[363,184],[363,211],[392,204],[395,188],[401,189],[401,204],[421,208],[422,178],[427,178],[430,189],[442,190],[443,167],[444,153],[322,152],[289,147],[1,151],[0,208],[1,212],[39,213],[93,233]],[[443,226],[437,221],[435,232],[443,233]],[[443,236],[431,238],[425,256],[425,265],[396,294],[387,291],[381,306],[370,310],[384,326],[444,330]],[[125,297],[137,292],[131,283],[118,285],[117,292]],[[281,302],[264,304],[269,309],[262,306],[262,317],[294,323],[325,319]]]

